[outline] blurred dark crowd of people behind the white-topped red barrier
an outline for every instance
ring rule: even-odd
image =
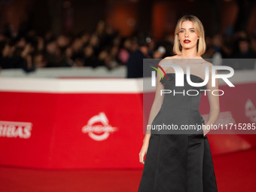
[[[144,44],[143,42],[147,42]],[[167,33],[161,40],[154,40],[150,33],[134,33],[121,37],[111,26],[99,21],[95,32],[80,32],[77,35],[44,36],[35,30],[20,29],[11,34],[8,29],[0,33],[0,67],[2,69],[24,69],[26,72],[49,67],[105,66],[114,69],[125,66],[130,55],[143,49],[143,58],[161,59],[174,55],[174,35]],[[256,34],[236,32],[206,34],[206,53],[203,58],[256,58]],[[254,69],[254,66],[249,67]],[[239,66],[238,69],[244,69]]]

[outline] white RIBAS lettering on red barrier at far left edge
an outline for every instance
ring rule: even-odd
[[[32,123],[0,120],[0,137],[29,139]]]

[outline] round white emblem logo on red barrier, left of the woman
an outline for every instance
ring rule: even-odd
[[[82,132],[88,133],[88,136],[95,141],[108,139],[110,133],[115,131],[117,131],[117,127],[108,124],[108,118],[104,112],[91,117],[87,125],[82,128]]]

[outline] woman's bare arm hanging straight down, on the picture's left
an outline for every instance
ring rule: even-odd
[[[160,65],[160,63],[159,63],[159,65]],[[159,71],[163,75],[163,72],[161,71],[161,69],[159,69]],[[161,93],[161,90],[164,89],[164,87],[163,87],[163,84],[160,83],[160,79],[161,79],[161,76],[157,72],[156,92],[155,92],[155,96],[154,96],[154,102],[153,102],[153,105],[151,107],[151,111],[150,111],[150,114],[149,114],[149,117],[148,117],[148,125],[152,124],[154,118],[157,116],[157,114],[160,111],[160,108],[163,104],[163,96],[161,96],[160,93]],[[142,164],[145,163],[144,157],[145,157],[145,154],[147,154],[147,151],[148,151],[148,143],[149,143],[150,137],[151,137],[150,130],[147,130],[146,134],[145,134],[145,137],[143,139],[142,150],[139,153],[139,162],[142,163]]]

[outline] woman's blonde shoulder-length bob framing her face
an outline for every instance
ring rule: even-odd
[[[175,39],[174,39],[174,44],[173,44],[173,53],[177,55],[181,55],[181,44],[178,41],[178,33],[181,31],[181,23],[183,21],[192,21],[194,23],[194,29],[197,35],[199,36],[199,40],[197,41],[197,54],[198,55],[203,55],[203,53],[206,52],[206,41],[205,41],[205,32],[203,29],[203,24],[201,21],[194,15],[184,15],[178,20],[178,23],[175,28]]]

